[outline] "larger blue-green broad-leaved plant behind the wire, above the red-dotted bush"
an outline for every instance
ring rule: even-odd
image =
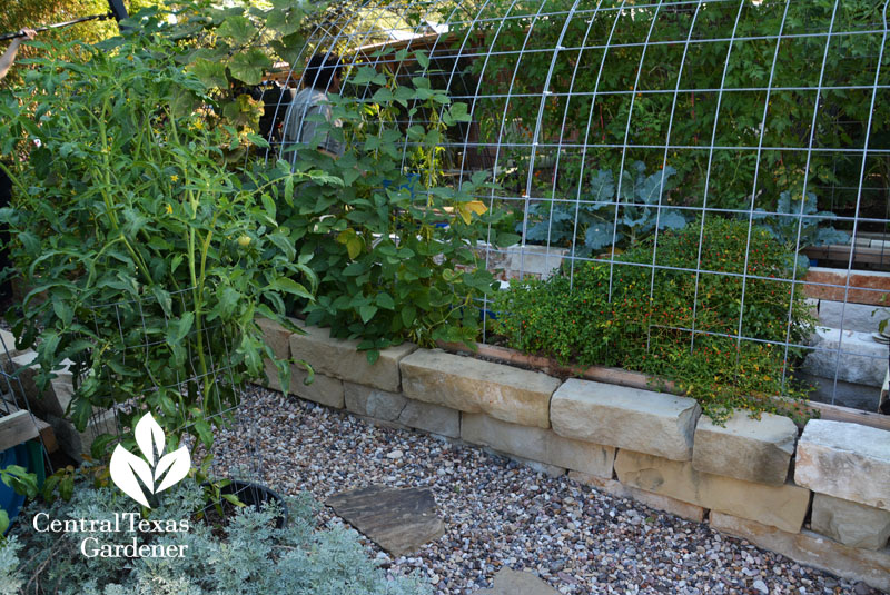
[[[622,172],[619,189],[611,171],[595,171],[577,202],[543,201],[531,207],[530,219],[535,222],[525,237],[536,244],[548,240],[556,246],[574,244],[576,255],[589,256],[606,246],[634,246],[655,227],[680,229],[686,225],[680,211],[659,208],[675,172],[669,166],[646,176],[645,163],[636,161]],[[576,240],[576,235],[583,238],[583,245]]]

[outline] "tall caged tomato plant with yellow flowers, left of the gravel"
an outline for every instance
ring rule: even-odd
[[[36,347],[42,386],[73,361],[77,427],[128,404],[125,426],[150,410],[168,435],[209,446],[238,387],[275,359],[255,317],[287,324],[284,297],[312,298],[309,256],[277,224],[270,188],[314,175],[229,171],[239,140],[207,126],[212,98],[165,38],[70,50],[79,59],[41,60],[0,98],[3,152],[40,140],[9,170],[16,196],[0,211],[28,287],[16,334]]]

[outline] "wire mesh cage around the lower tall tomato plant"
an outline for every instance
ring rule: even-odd
[[[234,375],[239,365],[237,346],[230,344],[234,334],[218,320],[182,333],[182,320],[191,321],[192,298],[192,289],[155,291],[82,313],[78,345],[85,348],[76,353],[71,371],[75,387],[92,407],[87,410],[87,401],[78,400],[70,411],[75,422],[86,416],[81,436],[91,444],[80,446],[107,454],[121,432],[128,438],[150,414],[184,439],[192,466],[202,467],[205,444],[225,443],[228,458],[214,458],[202,470],[214,477],[259,479],[259,435],[238,416],[245,387]],[[177,447],[172,437],[166,446]]]

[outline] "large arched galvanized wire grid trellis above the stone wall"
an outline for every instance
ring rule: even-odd
[[[422,199],[486,172],[495,184],[475,198],[507,214],[492,234],[520,237],[478,247],[491,270],[514,288],[558,277],[567,295],[637,313],[590,361],[767,353],[751,361],[778,387],[799,378],[819,399],[873,410],[888,359],[887,11],[840,0],[340,4],[289,65],[269,157],[306,140],[288,133],[313,120],[289,105],[300,89],[369,110],[387,77],[424,76],[467,118],[418,156],[412,127],[448,108],[405,105],[394,139],[405,179],[393,182]],[[342,85],[307,63],[336,65]],[[384,78],[359,76],[367,66]],[[481,308],[486,323],[510,314],[497,304]],[[582,324],[611,337],[603,313]],[[484,339],[510,336],[504,324],[486,324]],[[736,366],[732,383],[745,386],[744,374]]]

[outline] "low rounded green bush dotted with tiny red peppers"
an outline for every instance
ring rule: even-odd
[[[798,415],[799,404],[784,408],[772,399],[803,396],[790,381],[783,346],[792,345],[789,359],[800,356],[794,345],[813,321],[801,291],[792,296],[795,255],[760,227],[751,228],[746,251],[746,221],[718,217],[655,241],[613,262],[514,282],[495,300],[495,330],[511,347],[564,364],[623,366],[674,380],[718,420],[735,407]]]

